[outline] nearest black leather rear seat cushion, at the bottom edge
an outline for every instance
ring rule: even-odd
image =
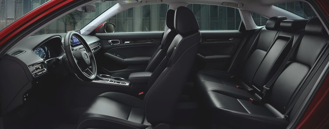
[[[213,123],[229,125],[232,128],[281,129],[287,127],[287,120],[269,111],[264,105],[254,105],[249,101],[221,95],[212,91],[204,97]]]

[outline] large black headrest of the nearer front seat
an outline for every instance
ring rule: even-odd
[[[196,21],[193,12],[183,6],[176,9],[174,27],[181,35],[189,35],[199,31],[198,21]]]

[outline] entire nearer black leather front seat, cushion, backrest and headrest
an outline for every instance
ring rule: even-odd
[[[175,36],[157,69],[164,69],[144,100],[122,93],[106,92],[81,115],[78,129],[142,129],[174,119],[178,98],[194,62],[201,34],[192,11],[178,7]],[[156,70],[157,71],[157,70]]]

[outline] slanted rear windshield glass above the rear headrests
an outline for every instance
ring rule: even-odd
[[[316,17],[315,12],[311,8],[311,6],[306,2],[295,1],[295,2],[275,4],[275,6],[290,11],[292,13],[295,13],[298,16],[304,17],[305,19],[311,19],[313,17]]]

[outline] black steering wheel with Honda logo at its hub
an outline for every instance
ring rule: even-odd
[[[85,50],[74,50],[71,47],[71,38],[76,37],[85,48]],[[70,31],[64,37],[64,50],[67,61],[71,69],[78,76],[78,78],[90,82],[95,79],[97,74],[97,67],[94,54],[86,42],[86,40],[77,32]],[[91,68],[89,68],[91,66]],[[91,69],[91,70],[90,70]]]

